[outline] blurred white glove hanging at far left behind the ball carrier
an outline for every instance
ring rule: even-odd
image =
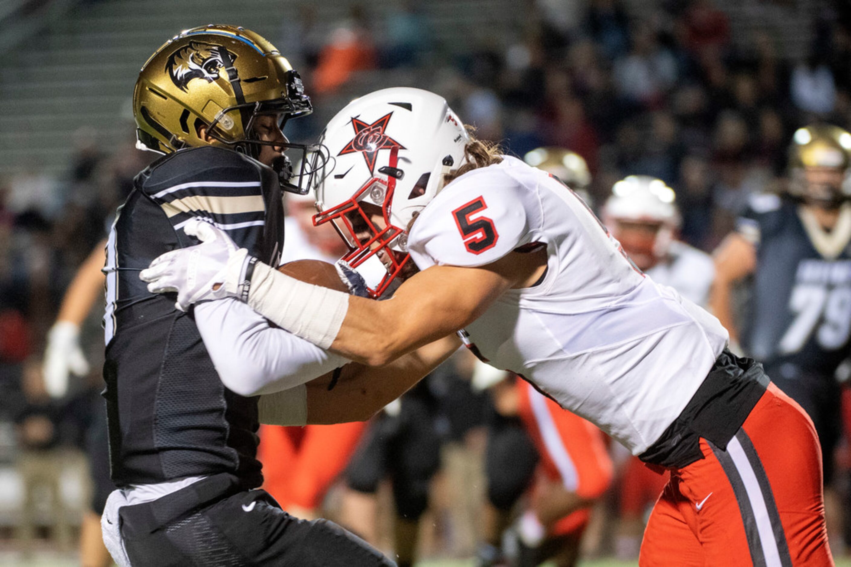
[[[71,321],[57,321],[48,332],[44,349],[42,373],[44,388],[53,398],[61,398],[68,391],[68,375],[85,376],[89,362],[80,349],[80,327]]]

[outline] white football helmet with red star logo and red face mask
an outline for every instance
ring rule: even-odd
[[[334,224],[350,248],[343,259],[355,269],[382,252],[386,275],[368,286],[374,297],[403,273],[409,225],[443,189],[444,174],[462,165],[469,140],[446,100],[419,88],[366,94],[328,122],[313,224]],[[374,223],[377,215],[384,226]]]

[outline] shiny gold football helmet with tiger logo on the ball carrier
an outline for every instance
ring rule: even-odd
[[[140,149],[163,154],[208,145],[198,135],[205,127],[214,145],[257,157],[260,145],[282,145],[258,139],[252,128],[257,116],[278,116],[283,129],[289,118],[312,110],[288,60],[265,38],[237,26],[180,32],[142,66],[133,94]],[[301,151],[299,179],[306,179],[307,152],[313,148],[290,143],[283,147]],[[284,189],[306,192],[306,183],[300,183],[304,190],[288,183],[292,167],[286,158],[274,168]]]

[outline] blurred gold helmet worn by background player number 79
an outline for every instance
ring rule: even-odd
[[[851,133],[831,124],[798,128],[789,149],[789,192],[822,207],[851,198]]]

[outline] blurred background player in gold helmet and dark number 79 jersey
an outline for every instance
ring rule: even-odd
[[[837,367],[851,354],[851,133],[800,128],[785,195],[758,195],[716,252],[711,308],[731,342],[765,366],[813,419],[821,442],[825,512],[841,541],[832,490],[841,434]],[[752,281],[749,316],[734,316],[733,288]]]

